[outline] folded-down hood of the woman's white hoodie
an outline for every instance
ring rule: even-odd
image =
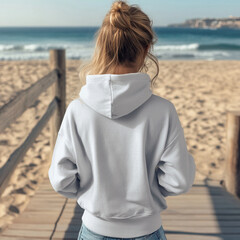
[[[152,95],[146,73],[87,75],[80,98],[96,112],[116,119],[127,115]]]

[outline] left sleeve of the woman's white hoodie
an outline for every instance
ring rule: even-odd
[[[70,142],[58,132],[48,176],[53,189],[67,198],[77,198],[80,180]]]

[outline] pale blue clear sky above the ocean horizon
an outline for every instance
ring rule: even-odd
[[[100,26],[113,0],[0,0],[0,27]],[[167,26],[191,18],[240,16],[240,0],[129,0]]]

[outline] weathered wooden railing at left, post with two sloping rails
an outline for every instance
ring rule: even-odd
[[[50,69],[50,73],[39,79],[29,88],[22,90],[14,99],[0,108],[0,132],[2,132],[21,116],[38,99],[42,92],[52,86],[53,100],[49,103],[42,118],[34,126],[25,141],[10,155],[5,165],[0,169],[0,196],[6,189],[9,179],[18,163],[23,159],[27,150],[32,146],[50,119],[50,145],[51,151],[53,151],[57,133],[66,109],[66,63],[64,49],[50,50]]]

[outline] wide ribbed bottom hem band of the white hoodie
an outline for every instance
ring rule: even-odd
[[[96,217],[85,210],[83,224],[94,233],[107,237],[136,238],[151,234],[162,225],[160,212],[139,218],[113,219],[112,221]]]

